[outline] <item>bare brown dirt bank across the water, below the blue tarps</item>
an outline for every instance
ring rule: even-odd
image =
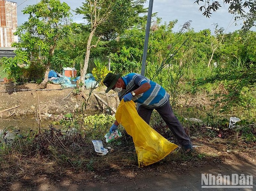
[[[47,84],[47,88],[45,90],[41,91],[37,89],[37,84],[0,84],[0,111],[14,106],[19,106],[10,111],[3,112],[3,117],[8,117],[14,111],[15,113],[12,115],[12,117],[34,115],[37,109],[37,111],[41,111],[43,118],[48,118],[51,114],[54,116],[74,112],[76,108],[81,105],[81,102],[84,101],[84,99],[77,100],[76,96],[73,96],[73,94],[69,95],[73,89],[51,90],[61,89],[60,85]],[[104,88],[96,88],[95,92],[104,94]],[[86,90],[85,94],[89,95],[89,90]],[[104,97],[106,100],[105,95],[99,96],[102,98]],[[111,106],[115,106],[115,99],[110,98],[110,103]],[[96,101],[95,97],[91,95],[87,112],[95,113],[96,110],[99,111],[99,109],[98,102]]]

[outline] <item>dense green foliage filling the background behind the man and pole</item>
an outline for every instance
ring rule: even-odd
[[[123,26],[122,30],[111,25],[97,29],[92,44],[96,44],[100,35],[101,38],[97,47],[91,49],[87,73],[93,72],[97,79],[102,80],[108,72],[107,64],[103,69],[96,67],[96,58],[102,61],[110,58],[114,73],[140,73],[146,25],[144,2],[138,0],[131,4],[124,0],[131,13],[122,13],[123,9],[120,9],[109,18],[115,23],[120,14],[128,14],[129,20],[115,25]],[[190,21],[181,26],[180,31],[173,31],[177,20],[163,23],[157,14],[153,15],[153,19],[145,75],[169,92],[175,110],[192,117],[205,112],[227,118],[231,115],[250,120],[255,118],[255,31],[226,34],[223,28],[216,25],[212,35],[210,29],[193,31],[189,28]],[[80,75],[80,63],[85,59],[90,27],[70,23],[67,28],[70,33],[58,40],[51,58],[51,69],[61,72],[62,67],[75,67]],[[37,56],[34,56],[36,59],[29,56],[38,55],[38,49],[24,51],[18,47],[16,54],[14,59],[1,60],[1,67],[9,78],[16,82],[42,79],[44,61]],[[32,75],[35,73],[37,75]],[[198,95],[204,96],[207,104],[192,106],[189,100]],[[199,111],[201,114],[198,114]]]

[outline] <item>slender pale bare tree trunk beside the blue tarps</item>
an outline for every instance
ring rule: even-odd
[[[89,57],[90,57],[90,52],[91,52],[91,41],[92,41],[92,37],[94,35],[95,30],[96,30],[96,27],[94,27],[93,30],[91,31],[91,33],[89,35],[89,38],[88,38],[88,41],[87,41],[87,48],[86,48],[84,67],[81,70],[81,77],[80,77],[80,80],[79,80],[80,83],[78,83],[78,85],[82,84],[81,93],[83,93],[84,90],[85,90],[85,85],[84,85],[85,75],[86,75],[86,72],[87,72],[88,62],[89,62]]]

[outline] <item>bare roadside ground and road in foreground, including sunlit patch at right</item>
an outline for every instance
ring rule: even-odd
[[[114,166],[101,172],[63,172],[52,178],[49,175],[37,175],[34,180],[24,177],[11,182],[8,190],[38,191],[132,191],[132,190],[255,190],[256,186],[256,145],[241,145],[227,150],[222,143],[209,143],[202,138],[192,139],[197,147],[192,159],[185,162],[168,162],[165,159],[153,165],[138,168]],[[214,146],[213,146],[214,145]],[[204,156],[205,157],[198,157]],[[252,188],[201,188],[201,174],[217,176],[231,174],[253,175]]]

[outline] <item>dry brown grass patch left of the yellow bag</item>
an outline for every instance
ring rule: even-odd
[[[16,138],[1,143],[0,181],[4,184],[18,179],[31,180],[35,176],[56,176],[67,170],[74,172],[118,170],[136,165],[132,139],[123,136],[115,143],[104,144],[113,150],[99,156],[85,131],[63,132],[51,127],[40,135]]]

